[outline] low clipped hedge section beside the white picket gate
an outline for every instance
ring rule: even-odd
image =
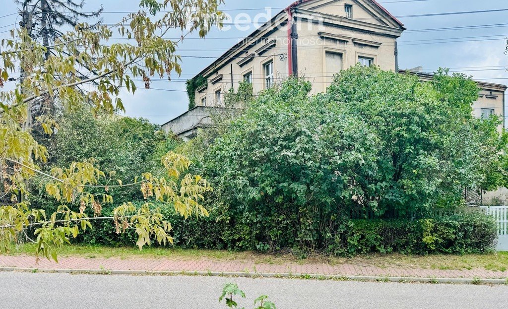
[[[365,253],[485,253],[495,246],[496,223],[483,213],[437,219],[356,220],[329,247],[335,255]]]

